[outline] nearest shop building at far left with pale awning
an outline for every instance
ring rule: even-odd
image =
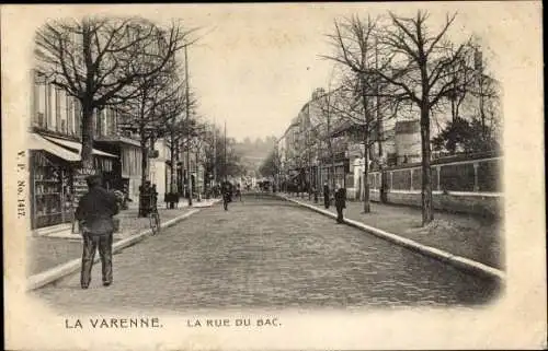
[[[28,128],[31,227],[41,229],[71,222],[78,194],[85,184],[78,182],[81,153],[81,107],[79,102],[32,71],[31,125]],[[112,130],[113,114],[95,118],[95,128]],[[106,179],[106,187],[119,167],[117,154],[94,145],[94,168]]]

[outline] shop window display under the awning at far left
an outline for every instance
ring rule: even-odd
[[[45,152],[33,153],[33,229],[72,221],[70,168]]]

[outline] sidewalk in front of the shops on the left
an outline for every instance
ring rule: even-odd
[[[212,206],[212,200],[203,200],[193,203],[193,208],[204,208]],[[195,206],[194,206],[195,204]],[[181,217],[192,208],[187,203],[179,203],[178,209],[160,208],[162,223]],[[121,232],[114,234],[114,242],[127,238],[150,227],[148,218],[137,218],[137,209],[122,211],[117,217],[121,219]],[[31,277],[58,265],[62,265],[71,259],[81,257],[82,243],[80,234],[72,234],[70,229],[48,233],[41,236],[27,236],[26,249],[28,254],[26,277]]]

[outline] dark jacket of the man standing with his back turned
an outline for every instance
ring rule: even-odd
[[[84,232],[106,235],[114,231],[112,217],[118,213],[114,194],[96,186],[91,188],[78,203],[76,218],[83,221]]]

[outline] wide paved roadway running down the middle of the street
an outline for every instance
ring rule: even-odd
[[[60,311],[470,306],[493,281],[274,198],[203,209],[100,266],[87,291],[72,274],[33,294]]]

